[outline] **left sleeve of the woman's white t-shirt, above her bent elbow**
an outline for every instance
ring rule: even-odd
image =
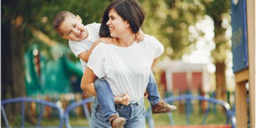
[[[98,78],[106,76],[106,44],[99,43],[89,57],[87,66],[95,73]]]

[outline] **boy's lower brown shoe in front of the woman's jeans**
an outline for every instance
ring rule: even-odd
[[[110,116],[109,121],[113,128],[123,128],[125,124],[125,118],[119,117],[117,114]]]

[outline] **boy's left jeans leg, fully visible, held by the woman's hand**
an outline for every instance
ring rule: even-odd
[[[114,97],[109,83],[106,80],[95,80],[95,91],[105,121],[108,121],[113,114],[119,115],[114,107]]]

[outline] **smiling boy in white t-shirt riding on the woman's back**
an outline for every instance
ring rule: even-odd
[[[92,23],[88,25],[82,24],[82,19],[77,15],[71,14],[69,11],[60,11],[53,19],[53,28],[64,39],[69,40],[69,46],[76,57],[80,58],[80,62],[83,66],[83,71],[86,68],[86,62],[95,46],[100,43],[111,43],[111,38],[99,38],[100,24]],[[136,38],[142,39],[144,33],[140,31]],[[125,93],[124,96],[113,97],[112,90],[109,84],[105,80],[97,79],[95,81],[95,90],[97,98],[100,102],[104,119],[110,121],[112,127],[123,126],[125,119],[119,117],[115,110],[114,102],[127,105],[130,102],[129,94]],[[152,113],[171,112],[176,109],[176,106],[166,104],[163,100],[160,100],[156,80],[151,72],[149,84],[147,85],[147,94],[149,102],[152,106]]]

